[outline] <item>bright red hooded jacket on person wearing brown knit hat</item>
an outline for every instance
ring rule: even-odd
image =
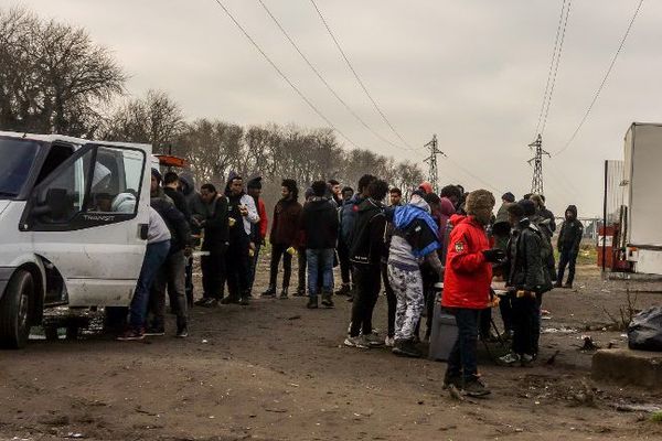
[[[481,251],[490,248],[485,229],[472,216],[453,215],[448,240],[441,305],[479,310],[488,308],[492,265]]]

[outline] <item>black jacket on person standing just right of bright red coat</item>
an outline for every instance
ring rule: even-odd
[[[543,234],[527,218],[520,222],[508,246],[508,286],[517,290],[545,292],[552,288],[542,258]]]

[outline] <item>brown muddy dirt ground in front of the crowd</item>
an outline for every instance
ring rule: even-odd
[[[266,288],[267,259],[256,293]],[[660,283],[630,289],[647,291],[639,308],[662,299],[650,292]],[[351,305],[343,298],[334,310],[309,311],[305,302],[194,308],[186,340],[172,336],[171,321],[170,335],[142,342],[92,335],[0,352],[0,439],[662,439],[662,424],[616,410],[662,405],[661,392],[589,379],[583,335],[626,346],[604,312],[627,304],[626,284],[602,281],[592,267],[580,269],[575,290],[545,294],[549,315],[535,366],[496,366],[481,347],[487,399],[452,399],[441,388],[444,363],[341,346]],[[385,329],[385,312],[382,298],[375,326]]]

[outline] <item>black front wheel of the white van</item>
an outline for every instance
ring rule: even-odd
[[[20,349],[30,336],[30,299],[34,295],[32,275],[18,270],[0,299],[0,346]]]

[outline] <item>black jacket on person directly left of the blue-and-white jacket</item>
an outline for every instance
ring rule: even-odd
[[[386,216],[384,204],[367,198],[359,205],[352,243],[350,247],[350,261],[354,263],[378,265],[386,255],[384,232],[386,230]]]

